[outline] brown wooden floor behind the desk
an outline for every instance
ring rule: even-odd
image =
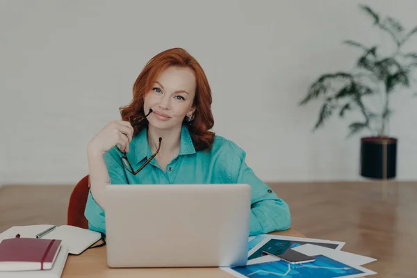
[[[292,226],[310,238],[345,241],[378,259],[377,277],[417,277],[417,182],[269,183],[288,202]],[[0,232],[14,225],[66,224],[72,186],[0,188]],[[375,276],[374,276],[375,277]]]

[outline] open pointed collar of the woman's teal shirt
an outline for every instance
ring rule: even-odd
[[[188,131],[188,128],[185,124],[181,126],[180,140],[181,142],[179,144],[179,156],[186,154],[195,154],[193,140],[191,139],[190,131]],[[138,133],[133,146],[133,152],[129,152],[127,154],[127,158],[129,158],[129,161],[136,161],[136,164],[138,164],[145,158],[149,158],[152,156],[151,148],[149,147],[149,143],[147,140],[147,127],[142,129],[140,133]]]

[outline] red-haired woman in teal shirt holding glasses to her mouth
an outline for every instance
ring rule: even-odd
[[[187,51],[168,49],[145,65],[133,101],[121,108],[122,120],[108,123],[88,143],[89,229],[106,233],[107,183],[248,183],[250,235],[290,227],[288,205],[246,165],[243,149],[209,131],[211,102],[206,75]]]

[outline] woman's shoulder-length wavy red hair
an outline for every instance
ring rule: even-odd
[[[184,123],[186,123],[190,132],[196,151],[210,150],[215,136],[215,133],[209,131],[214,124],[213,114],[211,113],[212,98],[210,85],[208,85],[206,74],[197,60],[184,49],[167,49],[149,60],[133,84],[133,100],[131,104],[120,108],[122,120],[132,123],[138,117],[145,116],[143,111],[145,95],[152,90],[152,85],[159,74],[170,66],[189,67],[194,72],[196,81],[193,101],[193,106],[195,106],[194,119],[191,122],[184,120]],[[147,124],[147,120],[140,122],[134,127],[133,134],[139,133]]]

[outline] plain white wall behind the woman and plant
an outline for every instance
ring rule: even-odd
[[[142,67],[170,47],[202,64],[214,131],[247,151],[261,179],[360,179],[350,120],[311,133],[320,104],[297,106],[319,74],[352,67],[359,52],[343,40],[380,42],[358,3],[417,24],[414,0],[1,0],[0,183],[76,183],[88,140],[119,119]],[[417,179],[417,97],[398,96],[398,179]]]

